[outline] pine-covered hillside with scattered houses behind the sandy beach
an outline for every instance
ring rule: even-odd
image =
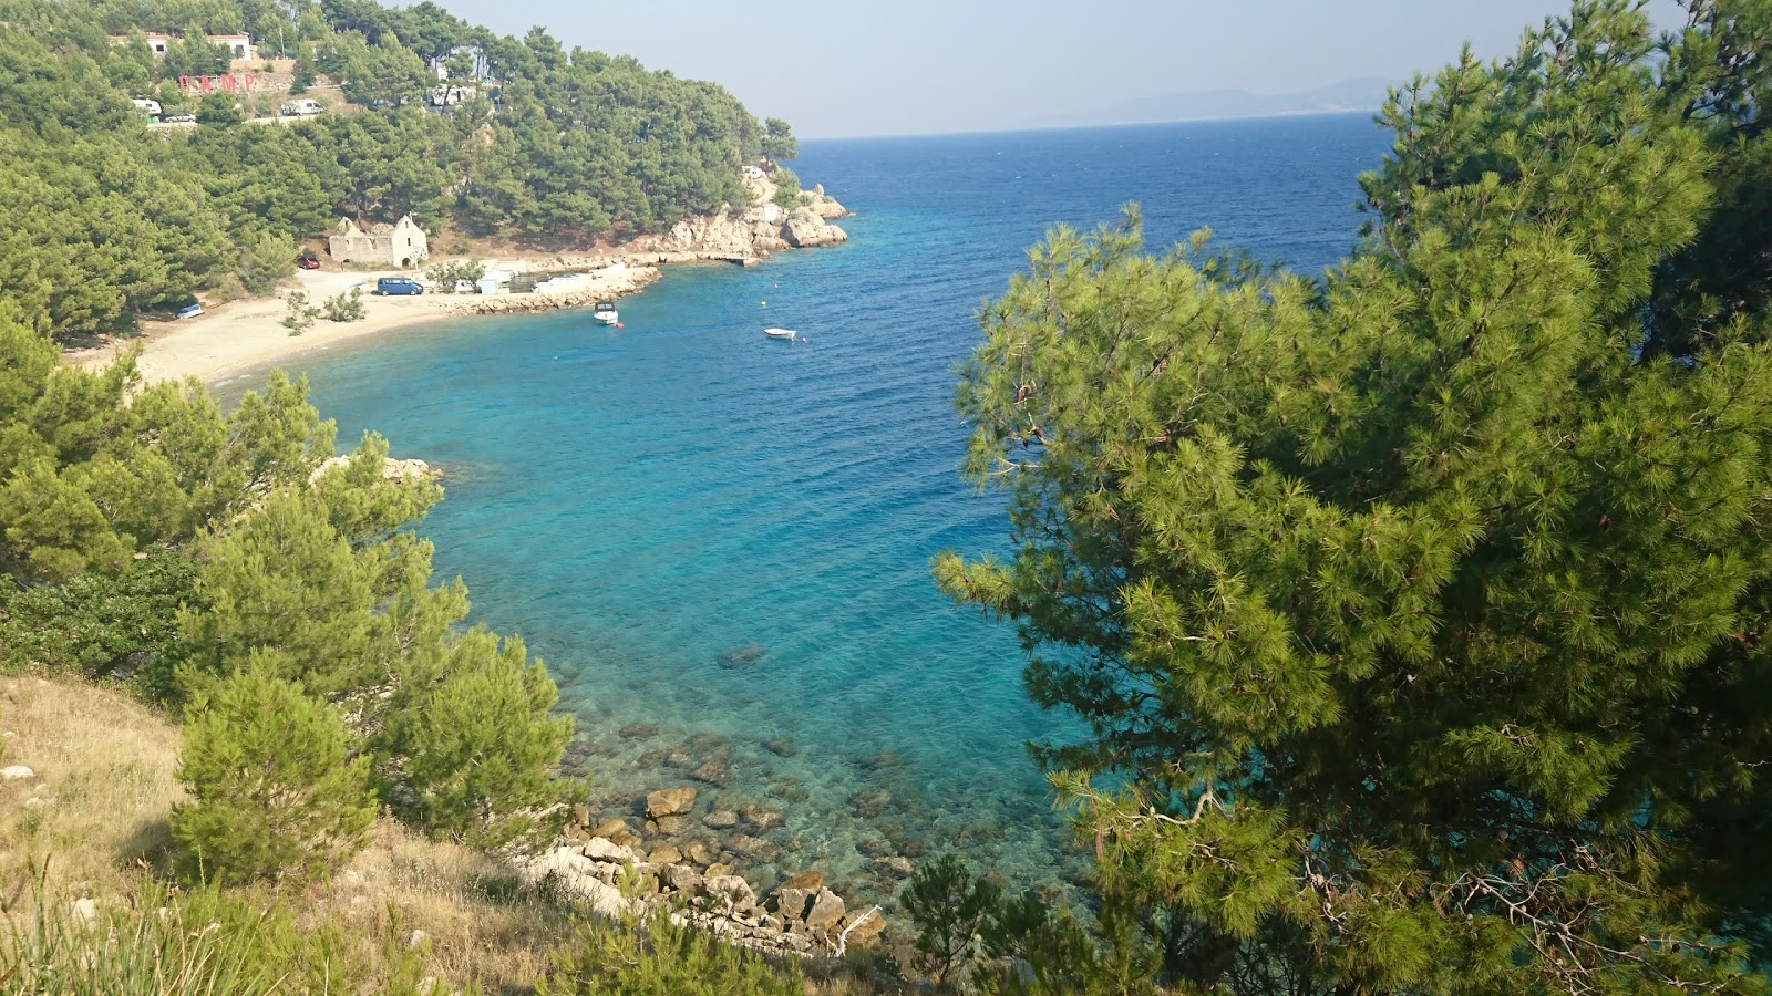
[[[174,35],[165,55],[149,32]],[[181,92],[181,76],[229,71],[204,35],[236,32],[255,62],[294,58],[296,90],[335,83],[361,113],[276,128],[243,119],[287,94]],[[461,103],[427,105],[432,66]],[[131,99],[197,126],[151,131]],[[742,206],[766,138],[721,87],[540,28],[498,37],[434,4],[0,0],[0,154],[30,207],[0,218],[0,298],[78,333],[200,289],[262,294],[340,214],[556,245],[654,232]]]

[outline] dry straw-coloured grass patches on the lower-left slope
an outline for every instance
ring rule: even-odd
[[[147,877],[165,872],[167,821],[184,796],[174,778],[179,739],[172,721],[113,688],[0,675],[0,767],[37,774],[0,782],[0,904],[12,906],[39,875],[57,904],[142,895]],[[344,927],[370,991],[415,930],[429,946],[425,973],[487,994],[532,992],[548,952],[572,934],[571,911],[521,886],[500,860],[388,819],[333,881],[285,900],[307,927]],[[810,994],[881,991],[840,969],[820,975]]]

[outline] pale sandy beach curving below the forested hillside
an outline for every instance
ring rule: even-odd
[[[489,266],[521,269],[521,264],[491,261]],[[365,317],[353,323],[317,319],[301,335],[284,328],[287,307],[282,294],[303,291],[312,303],[321,303],[353,285],[374,285],[377,276],[397,276],[400,271],[365,273],[340,269],[298,271],[294,282],[276,298],[253,298],[216,305],[207,314],[181,321],[152,321],[142,324],[140,338],[117,340],[94,349],[69,351],[67,363],[97,367],[110,363],[119,353],[142,347],[140,369],[147,383],[197,377],[206,383],[262,369],[340,342],[370,335],[409,331],[425,323],[477,314],[500,303],[512,310],[551,310],[587,305],[592,298],[620,298],[657,278],[657,271],[643,266],[611,266],[592,273],[571,294],[558,298],[544,294],[509,294],[482,298],[478,294],[416,294],[408,298],[381,298],[363,294]],[[409,276],[411,273],[404,273]]]

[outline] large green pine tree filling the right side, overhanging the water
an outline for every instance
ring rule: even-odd
[[[1042,760],[1159,980],[1763,991],[1768,21],[1581,2],[1395,94],[1322,280],[1134,214],[985,308],[1015,555],[936,572],[1092,730]]]

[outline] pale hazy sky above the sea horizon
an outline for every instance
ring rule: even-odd
[[[1024,126],[1134,97],[1403,82],[1465,41],[1512,51],[1568,0],[439,0],[501,34],[712,80],[801,138]],[[1673,0],[1652,0],[1662,27]]]

